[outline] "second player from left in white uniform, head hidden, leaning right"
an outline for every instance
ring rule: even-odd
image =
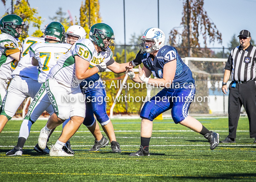
[[[33,66],[31,64],[32,58],[28,54],[29,47],[35,43],[38,42],[45,42],[45,38],[39,38],[39,37],[28,37],[24,39],[22,46],[22,58],[19,61],[19,64],[15,68],[15,70],[11,73],[13,79],[11,80],[11,83],[9,84],[9,87],[7,89],[6,96],[4,97],[4,102],[2,105],[2,111],[0,118],[4,120],[10,120],[16,113],[17,109],[19,108],[20,104],[24,101],[25,98],[32,97],[36,95],[36,93],[39,91],[42,84],[38,83],[37,77],[38,77],[38,66]],[[48,113],[53,112],[52,106],[49,106],[46,111]],[[22,126],[20,127],[20,130],[22,131],[24,129],[24,126],[31,127],[32,122],[29,122],[28,120],[25,120],[27,122],[22,122]],[[2,120],[0,120],[2,122]],[[28,131],[24,130],[24,131]],[[23,134],[23,135],[22,135]],[[23,146],[19,146],[19,144],[22,144],[22,140],[26,141],[26,138],[28,138],[28,135],[24,136],[24,133],[20,132],[18,143],[16,147],[22,148]],[[38,147],[39,148],[39,147]],[[39,148],[40,149],[40,148]],[[37,151],[37,147],[34,148],[35,151]],[[48,151],[48,147],[46,147],[46,150],[41,150],[40,152]],[[19,154],[20,151],[17,152]],[[16,154],[16,155],[17,155]]]

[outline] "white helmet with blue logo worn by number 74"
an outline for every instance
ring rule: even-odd
[[[159,28],[149,28],[141,37],[141,42],[142,43],[139,44],[141,53],[158,51],[165,45],[165,34]]]

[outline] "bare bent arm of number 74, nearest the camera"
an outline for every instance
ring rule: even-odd
[[[161,87],[170,87],[176,73],[176,59],[163,66],[163,78],[149,78],[148,84]]]

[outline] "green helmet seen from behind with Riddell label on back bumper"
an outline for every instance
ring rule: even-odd
[[[65,28],[59,22],[52,22],[45,29],[45,39],[58,40],[63,43],[65,40]]]

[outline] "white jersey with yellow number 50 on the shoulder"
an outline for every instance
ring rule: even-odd
[[[47,78],[54,78],[59,83],[67,87],[79,87],[84,79],[76,78],[75,59],[74,56],[80,56],[85,61],[90,62],[89,69],[95,67],[101,62],[107,63],[112,57],[112,51],[98,53],[93,42],[89,39],[80,39],[69,49],[67,53],[62,55],[57,64],[51,69]]]

